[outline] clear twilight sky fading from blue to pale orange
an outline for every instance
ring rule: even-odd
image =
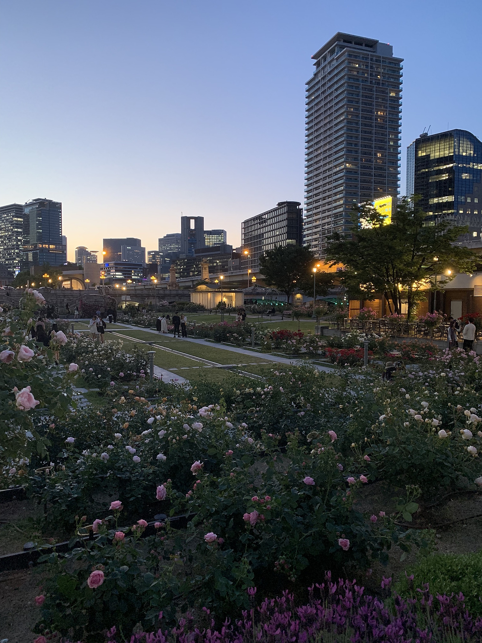
[[[204,216],[303,203],[305,81],[337,31],[405,59],[406,146],[482,138],[479,1],[0,0],[0,204],[62,201],[69,259],[102,237],[147,250]]]

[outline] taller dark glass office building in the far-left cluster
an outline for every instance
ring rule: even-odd
[[[62,266],[67,262],[62,243],[62,203],[32,199],[23,206],[24,267]]]

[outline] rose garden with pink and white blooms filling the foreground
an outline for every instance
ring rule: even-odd
[[[141,343],[31,340],[42,303],[0,312],[0,574],[28,578],[0,638],[482,640],[475,352],[372,336],[363,368],[357,333],[256,327],[292,363],[151,382]]]

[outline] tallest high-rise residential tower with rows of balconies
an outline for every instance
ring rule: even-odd
[[[337,33],[307,82],[303,239],[317,255],[350,234],[353,204],[397,197],[403,59],[377,40]]]

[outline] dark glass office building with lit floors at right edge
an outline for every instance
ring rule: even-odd
[[[465,130],[424,133],[407,147],[407,196],[422,197],[427,224],[450,219],[469,226],[460,242],[481,240],[481,175],[482,142]]]

